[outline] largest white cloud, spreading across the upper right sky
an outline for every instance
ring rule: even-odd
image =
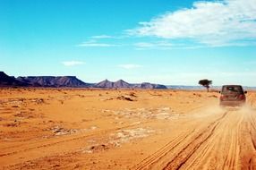
[[[190,38],[209,46],[250,44],[256,39],[256,0],[195,2],[178,10],[140,22],[130,35],[158,38]]]

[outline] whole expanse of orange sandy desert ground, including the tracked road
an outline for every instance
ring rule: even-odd
[[[256,92],[0,89],[0,169],[253,169]]]

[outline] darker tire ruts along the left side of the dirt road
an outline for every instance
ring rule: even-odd
[[[184,134],[179,135],[177,138],[175,138],[175,140],[170,141],[169,143],[166,144],[166,146],[164,146],[161,149],[158,149],[157,152],[143,159],[136,166],[133,166],[132,169],[150,169],[153,166],[158,165],[160,162],[163,162],[161,159],[166,159],[167,157],[169,157],[168,155],[172,152],[175,153],[174,150],[183,145],[184,140],[192,138],[191,140],[194,142],[188,143],[185,147],[183,147],[183,149],[178,151],[178,154],[172,159],[172,161],[168,161],[166,167],[164,167],[168,169],[170,168],[169,166],[176,164],[176,168],[179,168],[179,166],[183,165],[185,160],[192,156],[192,150],[196,150],[195,148],[199,148],[205,140],[209,139],[209,137],[214,132],[215,128],[218,126],[218,123],[220,123],[220,121],[225,118],[226,114],[227,112],[221,115],[221,117],[219,117],[216,121],[209,123],[209,125],[206,128],[202,129],[200,132],[193,130],[192,132],[186,132]],[[188,150],[190,150],[189,153],[187,153]],[[179,164],[177,160],[179,160]],[[175,168],[171,167],[171,169]]]

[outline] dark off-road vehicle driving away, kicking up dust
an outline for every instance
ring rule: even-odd
[[[224,85],[222,86],[219,98],[220,106],[243,106],[246,101],[245,94],[241,85]]]

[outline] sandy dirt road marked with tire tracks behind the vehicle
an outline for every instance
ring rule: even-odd
[[[255,114],[224,111],[204,127],[181,133],[134,169],[254,169]]]

